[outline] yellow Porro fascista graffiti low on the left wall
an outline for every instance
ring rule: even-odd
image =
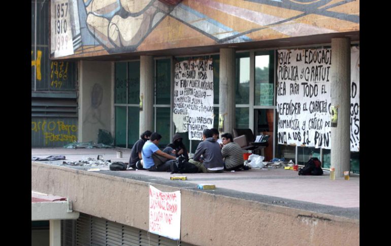
[[[51,131],[57,130],[58,134]],[[77,140],[76,125],[67,125],[63,121],[31,121],[31,131],[42,132],[45,145],[49,142],[74,142]],[[62,132],[61,132],[62,131]]]

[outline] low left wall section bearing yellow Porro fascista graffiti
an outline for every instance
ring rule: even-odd
[[[41,135],[44,146],[65,145],[77,140],[77,125],[62,120],[31,120],[31,134]]]

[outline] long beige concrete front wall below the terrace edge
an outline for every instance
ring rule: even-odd
[[[141,179],[141,178],[140,178]],[[165,192],[177,187],[153,184]],[[149,183],[31,162],[31,189],[73,209],[148,230]],[[360,222],[181,188],[181,241],[197,245],[359,245]]]

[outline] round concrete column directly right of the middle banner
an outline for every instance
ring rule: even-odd
[[[235,128],[235,49],[220,49],[219,116],[223,132]],[[221,134],[222,132],[220,132]]]

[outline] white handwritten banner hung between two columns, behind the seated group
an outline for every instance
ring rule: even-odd
[[[175,64],[173,121],[177,132],[189,132],[200,140],[206,128],[213,128],[213,64],[209,60],[188,60]]]

